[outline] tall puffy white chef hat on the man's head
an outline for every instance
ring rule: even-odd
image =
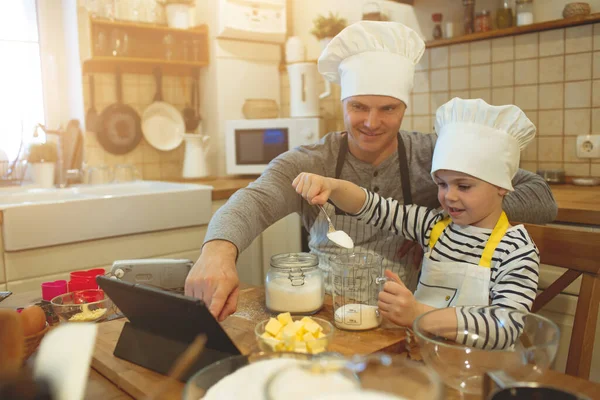
[[[319,57],[319,72],[350,96],[391,96],[408,104],[425,42],[398,22],[360,21],[341,31]]]

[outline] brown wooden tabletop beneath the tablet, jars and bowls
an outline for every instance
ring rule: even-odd
[[[0,303],[0,307],[10,308],[27,305],[34,302],[36,297],[39,297],[39,293],[30,292],[22,295],[14,295]],[[270,316],[263,304],[263,288],[245,288],[240,293],[238,311],[223,322],[225,330],[231,335],[236,345],[243,352],[251,351],[256,346],[254,334],[250,334],[248,329],[251,329],[251,332],[253,332],[256,322]],[[331,311],[331,299],[328,298],[324,309],[317,316],[330,318]],[[118,359],[112,355],[120,334],[120,329],[124,323],[125,321],[121,319],[98,324],[96,349],[84,397],[86,400],[141,398],[144,393],[155,387],[158,382],[164,380],[164,376],[160,374]],[[338,330],[330,350],[340,351],[343,354],[369,353],[374,351],[400,352],[404,350],[405,337],[402,329],[387,325],[367,332],[344,332]],[[599,384],[560,372],[547,371],[539,379],[539,382],[579,392],[592,399],[599,398]],[[146,385],[145,388],[143,387],[144,385]],[[170,388],[169,397],[167,398],[181,399],[182,389],[183,384],[176,383]],[[482,399],[482,396],[467,395],[461,397],[456,390],[447,388],[446,398],[450,400],[479,400]]]

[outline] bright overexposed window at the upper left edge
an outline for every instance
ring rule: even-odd
[[[45,123],[38,32],[35,0],[0,1],[0,149],[9,160]]]

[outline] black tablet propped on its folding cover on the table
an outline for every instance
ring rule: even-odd
[[[215,361],[241,354],[202,300],[105,276],[96,281],[129,319],[115,356],[167,374],[196,336],[205,334],[205,349],[182,378],[185,381]]]

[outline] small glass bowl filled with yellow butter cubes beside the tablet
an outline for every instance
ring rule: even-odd
[[[261,351],[319,354],[327,351],[334,331],[333,325],[322,318],[280,313],[259,322],[254,334]]]

